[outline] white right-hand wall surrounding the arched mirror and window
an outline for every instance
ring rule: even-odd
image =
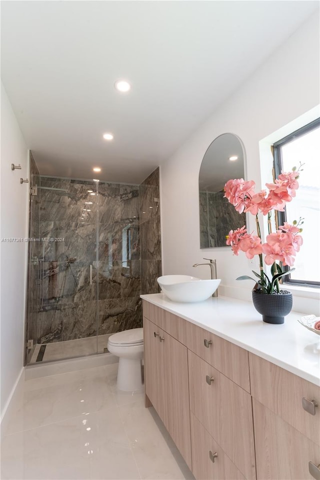
[[[260,168],[259,141],[318,103],[319,24],[318,15],[313,15],[161,167],[163,274],[209,278],[208,267],[194,269],[192,264],[203,257],[216,258],[217,274],[222,279],[220,294],[250,299],[253,284],[237,282],[235,278],[249,274],[255,265],[244,254],[234,256],[228,248],[199,248],[201,160],[215,137],[225,132],[235,133],[245,147],[247,179],[253,179],[259,189],[261,171],[265,171],[265,165]],[[266,158],[270,161],[267,169],[271,171],[270,154]],[[265,161],[264,156],[261,159]],[[253,216],[250,216],[252,230]],[[295,302],[293,308],[315,313],[315,301],[304,301],[302,306]],[[316,305],[318,308],[318,301]]]

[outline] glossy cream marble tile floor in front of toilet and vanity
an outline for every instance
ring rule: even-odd
[[[117,363],[24,381],[1,442],[2,480],[193,480],[143,390]]]

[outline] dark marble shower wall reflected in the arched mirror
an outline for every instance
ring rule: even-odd
[[[245,225],[245,213],[239,214],[223,195],[223,191],[200,191],[201,248],[225,246],[225,235]]]

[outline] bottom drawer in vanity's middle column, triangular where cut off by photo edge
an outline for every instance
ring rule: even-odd
[[[190,413],[192,473],[196,480],[245,480],[220,445]],[[212,461],[214,460],[214,461]]]

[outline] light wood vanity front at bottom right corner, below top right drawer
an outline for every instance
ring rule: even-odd
[[[320,448],[253,398],[258,480],[312,480],[309,461],[320,463]]]

